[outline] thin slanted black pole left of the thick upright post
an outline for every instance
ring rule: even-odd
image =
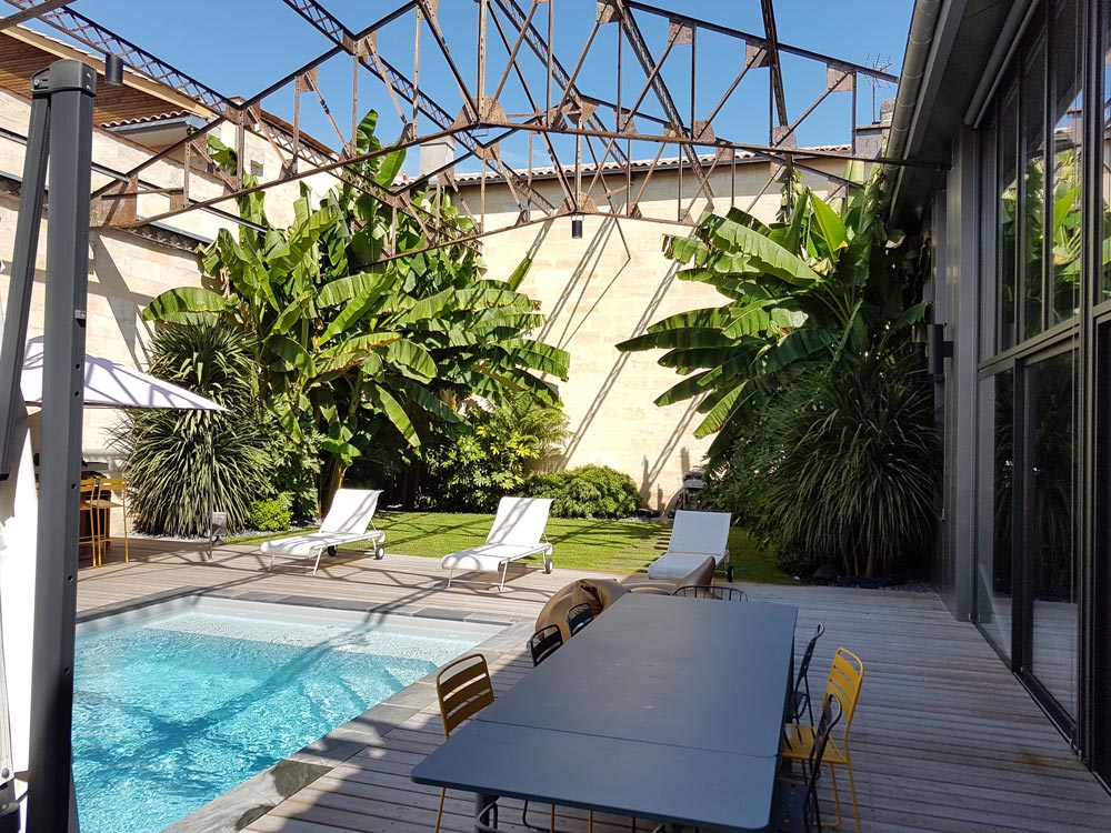
[[[50,101],[47,98],[36,98],[31,101],[31,123],[23,153],[23,181],[19,192],[19,214],[16,218],[8,314],[4,317],[3,342],[0,345],[0,480],[7,480],[11,473],[14,435],[12,414],[23,401],[19,380],[23,370],[23,342],[27,339],[27,319],[31,310],[34,257],[39,250],[39,227],[46,195],[49,129]]]

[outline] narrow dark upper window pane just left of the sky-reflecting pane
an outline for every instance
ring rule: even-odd
[[[1045,39],[1022,72],[1022,338],[1040,333],[1045,262]]]

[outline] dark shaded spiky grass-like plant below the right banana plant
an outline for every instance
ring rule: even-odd
[[[797,573],[921,573],[941,458],[928,380],[908,362],[840,361],[770,401],[707,499]]]

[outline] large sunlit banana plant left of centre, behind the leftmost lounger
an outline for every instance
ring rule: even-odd
[[[357,153],[379,149],[377,118],[371,111],[362,120]],[[211,138],[210,148],[233,170],[233,151]],[[316,207],[302,185],[284,229],[267,219],[261,191],[238,198],[252,225],[236,234],[222,229],[200,250],[219,290],[169,290],[143,311],[162,322],[222,319],[253,337],[259,389],[282,426],[297,439],[311,424],[324,438],[324,508],[343,471],[383,432],[419,449],[422,420],[461,421],[451,402],[523,391],[558,404],[543,375],[568,374],[564,351],[527,338],[542,322],[532,299],[484,279],[472,248],[428,248],[414,219],[353,184],[388,187],[403,160],[394,151],[348,165],[347,181]],[[414,202],[441,227],[471,230],[447,198],[433,204],[421,194]],[[401,257],[383,261],[387,247]]]

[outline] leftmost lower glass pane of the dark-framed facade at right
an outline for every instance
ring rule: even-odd
[[[1014,492],[1014,371],[980,382],[980,489],[977,506],[975,616],[1011,654],[1011,542]]]

